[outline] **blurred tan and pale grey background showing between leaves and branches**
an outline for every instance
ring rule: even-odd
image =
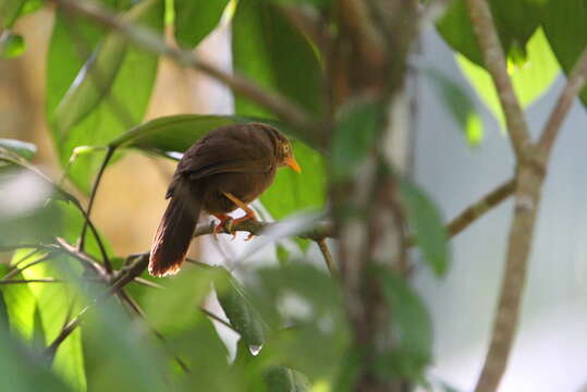
[[[28,50],[0,61],[0,137],[33,142],[35,163],[59,177],[45,123],[45,59],[52,11],[23,17],[15,32]],[[198,54],[230,68],[230,32],[220,27]],[[417,68],[432,66],[468,88],[452,51],[428,29],[415,57]],[[207,77],[163,60],[147,119],[174,113],[231,113],[231,96]],[[478,147],[468,146],[458,124],[438,100],[429,78],[415,73],[416,98],[412,171],[439,203],[447,220],[513,174],[512,152],[499,122],[477,101],[485,125]],[[563,78],[527,110],[535,134],[552,107]],[[472,90],[473,94],[473,90]],[[554,149],[533,247],[524,314],[513,356],[500,391],[582,391],[587,384],[587,144],[585,110],[575,105]],[[117,254],[146,250],[166,206],[174,163],[129,154],[108,170],[93,212]],[[458,390],[473,389],[488,345],[502,273],[511,203],[504,203],[452,241],[453,264],[438,280],[424,268],[415,281],[435,320],[437,362],[431,371]],[[241,240],[222,241],[237,252]],[[206,260],[220,260],[210,244],[193,246]]]

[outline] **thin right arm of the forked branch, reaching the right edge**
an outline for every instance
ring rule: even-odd
[[[564,86],[561,95],[559,96],[559,99],[557,100],[557,105],[554,106],[554,109],[552,109],[552,112],[550,113],[547,124],[545,125],[545,128],[542,130],[542,135],[540,137],[540,142],[538,143],[538,145],[540,146],[540,148],[542,149],[545,154],[545,159],[548,159],[548,156],[550,155],[550,151],[552,150],[554,140],[557,139],[557,136],[559,135],[563,120],[566,118],[566,114],[568,113],[568,110],[571,109],[571,105],[573,105],[573,101],[575,100],[577,95],[580,93],[580,90],[585,86],[586,77],[587,77],[587,48],[583,50],[583,53],[580,54],[577,62],[575,63],[573,71],[571,71],[566,85]]]

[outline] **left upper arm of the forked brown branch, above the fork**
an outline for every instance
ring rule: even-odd
[[[507,74],[505,56],[493,24],[493,17],[487,0],[466,0],[470,22],[477,36],[479,49],[484,56],[484,62],[496,86],[500,99],[507,134],[518,161],[526,154],[526,147],[530,145],[528,125],[524,112],[512,87],[512,81]]]

